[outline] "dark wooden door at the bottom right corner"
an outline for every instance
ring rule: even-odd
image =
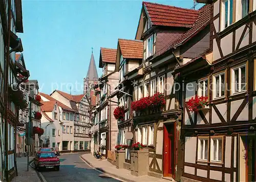
[[[255,137],[248,137],[248,143],[246,146],[246,181],[255,181],[256,180],[256,153],[255,146],[256,139]]]

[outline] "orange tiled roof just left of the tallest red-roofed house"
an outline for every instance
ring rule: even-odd
[[[123,58],[142,59],[143,42],[139,40],[118,39]]]

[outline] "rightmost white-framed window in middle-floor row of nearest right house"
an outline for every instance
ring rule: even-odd
[[[246,92],[246,85],[245,85],[244,90],[242,90],[242,85],[241,85],[241,68],[242,67],[245,67],[245,81],[247,81],[246,64],[241,64],[239,66],[231,68],[231,74],[232,74],[232,83],[231,83],[232,95],[236,95],[236,94],[239,94],[239,93]],[[239,70],[239,83],[238,83],[239,84],[239,91],[238,92],[234,91],[234,90],[236,90],[236,80],[235,80],[235,77],[234,77],[234,71],[236,71],[236,70]]]

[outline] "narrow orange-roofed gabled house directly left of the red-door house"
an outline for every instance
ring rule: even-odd
[[[139,40],[118,39],[117,57],[116,57],[116,72],[119,72],[119,84],[116,87],[116,92],[112,94],[118,97],[118,107],[124,110],[124,118],[118,120],[118,139],[117,144],[129,146],[125,149],[126,169],[129,169],[131,164],[130,146],[132,140],[126,140],[124,135],[126,132],[133,131],[133,112],[131,103],[133,101],[133,81],[139,74],[134,71],[142,64],[143,58],[143,42]],[[140,75],[142,77],[142,75]]]

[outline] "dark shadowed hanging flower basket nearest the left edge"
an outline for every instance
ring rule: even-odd
[[[28,103],[25,100],[25,95],[20,89],[14,90],[12,86],[8,86],[9,100],[13,102],[18,108],[25,109],[28,107]]]

